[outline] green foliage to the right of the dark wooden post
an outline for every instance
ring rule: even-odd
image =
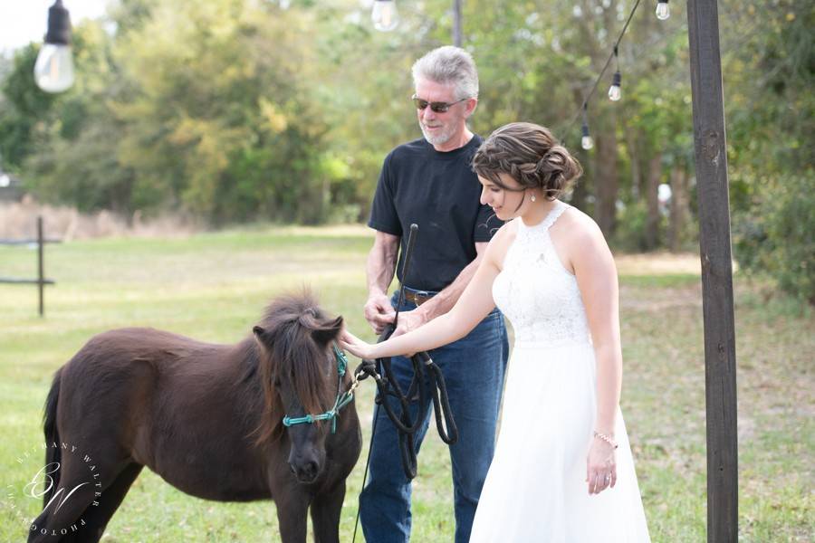
[[[746,271],[815,304],[815,7],[731,8],[736,23],[753,25],[731,55],[739,68],[728,134],[734,255]],[[751,63],[758,71],[747,69]]]

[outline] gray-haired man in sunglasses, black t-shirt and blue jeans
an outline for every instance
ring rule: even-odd
[[[419,226],[398,329],[401,334],[445,313],[465,290],[493,233],[501,226],[479,203],[481,185],[470,167],[482,138],[467,128],[478,103],[478,74],[468,52],[440,47],[413,65],[419,127],[424,138],[393,149],[382,166],[369,226],[376,230],[368,257],[365,318],[379,334],[393,322],[398,295],[388,298],[394,269],[402,269],[409,226]],[[398,266],[397,266],[398,256]],[[430,353],[444,373],[459,430],[451,445],[455,541],[464,543],[493,458],[495,424],[508,346],[503,315],[494,310],[468,336]],[[412,365],[393,358],[400,385],[410,385]],[[417,402],[413,407],[417,408]],[[417,412],[417,409],[414,413]],[[416,436],[427,432],[430,409]],[[403,543],[410,536],[410,481],[398,451],[398,434],[384,409],[373,435],[369,482],[360,497],[365,538]]]

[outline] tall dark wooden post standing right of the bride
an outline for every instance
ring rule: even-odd
[[[716,0],[688,0],[705,318],[707,541],[738,539],[736,359],[724,90]]]

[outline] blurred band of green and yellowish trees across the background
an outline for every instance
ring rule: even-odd
[[[671,229],[644,235],[643,216],[658,212],[649,183],[684,172],[683,212],[695,225],[685,5],[672,4],[667,21],[639,5],[619,47],[623,100],[605,97],[612,60],[589,106],[597,147],[576,145],[580,103],[633,5],[463,3],[464,43],[481,80],[471,126],[483,135],[518,119],[553,128],[586,171],[571,202],[602,219],[618,248],[647,238],[658,249]],[[739,221],[768,197],[762,179],[809,178],[801,172],[815,148],[815,10],[792,0],[725,0],[719,9],[742,232],[751,227]],[[211,224],[364,220],[382,158],[420,137],[410,66],[449,43],[453,25],[449,0],[404,0],[399,10],[398,30],[378,33],[359,0],[120,0],[107,20],[75,28],[72,90],[36,89],[34,44],[0,67],[2,166],[42,198],[83,210],[183,210]]]

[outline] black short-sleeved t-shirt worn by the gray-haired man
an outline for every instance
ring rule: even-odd
[[[379,174],[368,225],[400,236],[398,279],[412,289],[441,291],[475,260],[475,242],[489,242],[503,224],[481,205],[481,184],[470,162],[482,138],[442,153],[424,138],[393,149]],[[408,268],[401,276],[410,224],[418,225]]]

